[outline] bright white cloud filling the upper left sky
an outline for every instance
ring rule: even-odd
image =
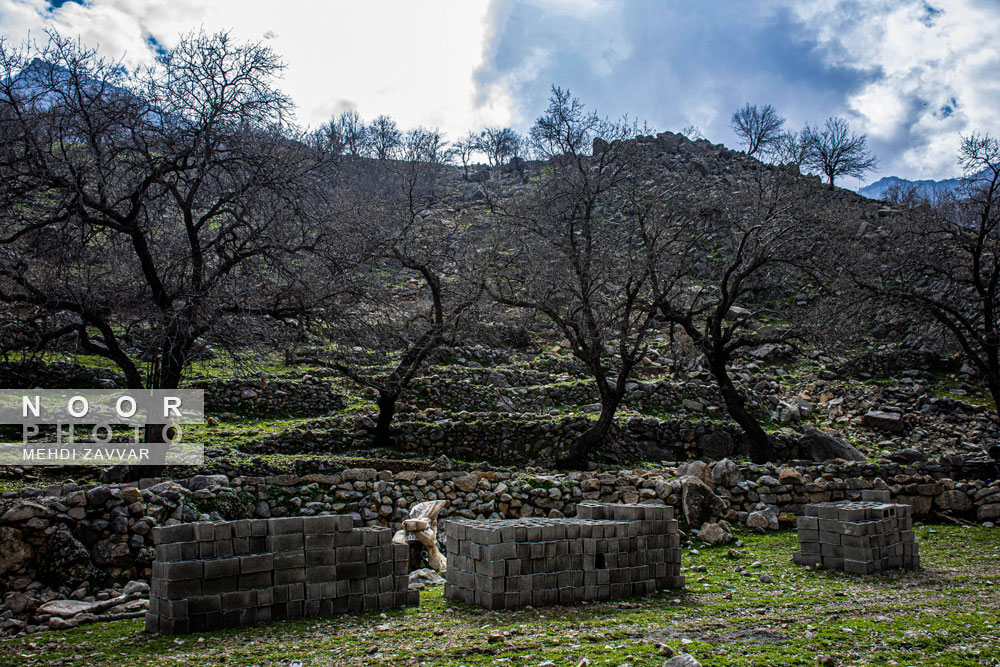
[[[287,64],[280,87],[298,105],[298,120],[317,125],[354,107],[400,125],[440,127],[451,136],[505,122],[502,98],[476,104],[473,73],[486,32],[485,0],[422,3],[286,0],[92,0],[49,10],[43,0],[0,0],[0,35],[19,42],[53,27],[100,45],[130,65],[148,62],[147,37],[169,47],[199,28],[266,39]]]

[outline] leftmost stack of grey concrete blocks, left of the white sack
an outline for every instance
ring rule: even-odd
[[[198,632],[419,603],[406,545],[349,516],[156,528],[146,630]]]

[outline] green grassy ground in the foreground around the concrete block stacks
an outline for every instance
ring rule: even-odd
[[[809,572],[791,531],[742,535],[745,552],[685,552],[683,593],[490,612],[423,592],[419,609],[151,637],[141,621],[0,644],[0,665],[661,665],[658,642],[706,667],[1000,664],[1000,531],[919,527],[925,568],[885,577]],[[760,561],[759,567],[751,567]],[[749,572],[749,576],[739,570]],[[769,575],[774,583],[759,581]],[[727,595],[729,599],[727,599]],[[491,637],[492,636],[492,637]],[[492,641],[491,641],[492,640]],[[686,643],[690,641],[690,643]]]

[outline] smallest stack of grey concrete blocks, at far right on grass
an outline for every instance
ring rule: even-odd
[[[793,560],[857,574],[920,567],[910,506],[891,504],[877,492],[864,497],[806,505],[797,519],[800,550]]]

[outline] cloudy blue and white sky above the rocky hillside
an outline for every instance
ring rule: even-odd
[[[956,176],[961,136],[1000,134],[1000,0],[0,0],[0,37],[46,28],[127,65],[198,29],[264,41],[306,126],[353,108],[524,131],[555,84],[738,148],[732,112],[771,104],[789,129],[867,134],[865,182]]]

